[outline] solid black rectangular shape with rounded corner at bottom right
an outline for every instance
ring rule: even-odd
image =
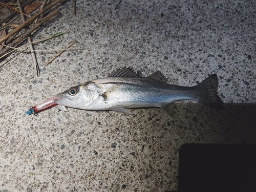
[[[179,153],[179,192],[256,190],[255,144],[184,144]]]

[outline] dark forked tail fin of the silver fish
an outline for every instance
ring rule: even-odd
[[[199,91],[198,102],[214,109],[223,110],[223,102],[217,92],[218,86],[219,82],[216,74],[207,77],[204,81],[199,83],[196,86]]]

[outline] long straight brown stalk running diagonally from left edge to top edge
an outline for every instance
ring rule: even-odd
[[[62,1],[66,1],[66,0],[56,0],[53,3],[51,3],[50,5],[48,5],[47,7],[43,8],[41,11],[38,11],[35,15],[33,15],[32,17],[30,17],[28,20],[26,20],[25,23],[21,24],[20,26],[18,26],[16,29],[12,30],[10,33],[8,33],[5,37],[3,37],[2,39],[0,39],[0,44],[2,44],[6,39],[8,39],[10,36],[16,34],[17,32],[19,32],[20,30],[22,30],[23,28],[25,28],[27,25],[29,25],[31,22],[33,22],[34,19],[36,19],[37,17],[39,17],[42,13],[44,13],[45,11],[47,11],[48,9],[52,8],[53,6],[57,5],[58,3],[61,3]]]

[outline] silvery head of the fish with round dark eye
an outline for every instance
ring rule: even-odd
[[[68,106],[70,108],[86,109],[86,106],[92,104],[92,98],[85,84],[71,87],[68,90],[58,94],[55,103]]]

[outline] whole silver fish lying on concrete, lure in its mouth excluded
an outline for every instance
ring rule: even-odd
[[[193,87],[166,83],[167,78],[159,71],[143,77],[132,68],[121,68],[105,78],[98,78],[71,87],[57,94],[54,102],[70,108],[90,111],[116,111],[129,115],[129,109],[161,108],[173,117],[173,103],[193,100],[211,108],[222,110],[223,102],[218,95],[218,77],[212,74]]]

